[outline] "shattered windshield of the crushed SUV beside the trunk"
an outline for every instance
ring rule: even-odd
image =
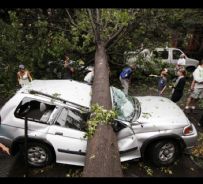
[[[118,113],[118,119],[123,121],[132,121],[136,109],[133,97],[125,95],[123,91],[112,87],[113,106]]]

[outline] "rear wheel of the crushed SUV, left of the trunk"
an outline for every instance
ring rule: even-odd
[[[33,167],[44,167],[53,161],[50,148],[42,143],[29,143],[27,153],[28,164]]]

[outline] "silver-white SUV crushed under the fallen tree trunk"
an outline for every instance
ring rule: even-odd
[[[196,143],[197,131],[171,100],[158,96],[128,96],[111,87],[118,117],[112,126],[120,160],[149,158],[157,166],[172,164]],[[28,118],[28,162],[41,167],[53,161],[84,165],[90,115],[91,85],[74,80],[33,80],[0,111],[0,142],[15,155],[24,143]]]

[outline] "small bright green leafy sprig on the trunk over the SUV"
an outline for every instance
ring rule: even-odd
[[[117,113],[115,110],[106,110],[98,104],[94,104],[91,106],[91,117],[87,121],[87,131],[85,137],[91,138],[97,126],[100,124],[111,124],[111,122],[117,117]]]

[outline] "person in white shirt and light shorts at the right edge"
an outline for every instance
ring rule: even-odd
[[[193,72],[191,94],[187,99],[185,109],[195,109],[195,104],[199,99],[203,99],[203,59]]]

